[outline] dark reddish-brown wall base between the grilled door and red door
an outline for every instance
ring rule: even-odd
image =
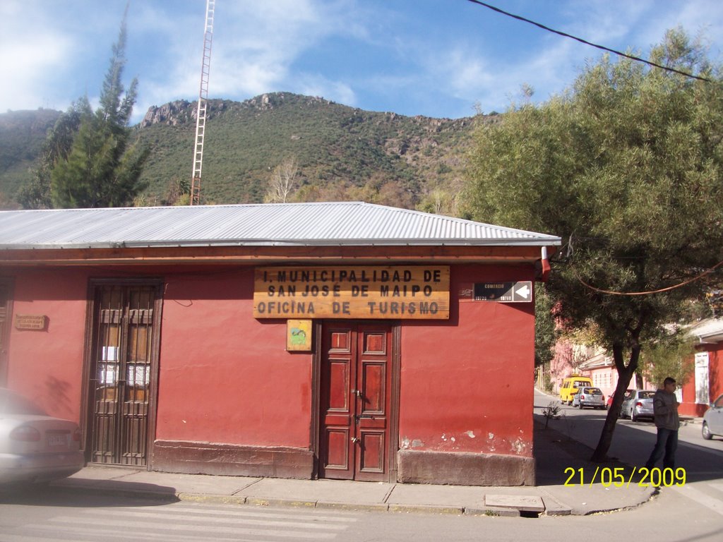
[[[157,440],[153,446],[151,468],[184,474],[309,480],[314,470],[314,457],[311,450],[301,448]]]

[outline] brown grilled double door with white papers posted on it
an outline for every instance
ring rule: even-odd
[[[155,286],[95,290],[90,460],[147,464]]]

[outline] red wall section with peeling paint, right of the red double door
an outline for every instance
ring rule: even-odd
[[[534,306],[455,302],[465,283],[533,280],[524,267],[451,272],[450,322],[405,322],[400,447],[532,456]]]

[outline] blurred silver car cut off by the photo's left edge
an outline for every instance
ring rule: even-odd
[[[0,483],[65,478],[84,464],[77,423],[52,418],[22,395],[0,388]]]

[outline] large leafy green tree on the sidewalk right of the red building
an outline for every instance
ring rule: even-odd
[[[558,316],[612,353],[619,380],[593,460],[641,351],[669,338],[723,260],[719,69],[683,30],[651,60],[713,82],[604,56],[565,94],[482,126],[470,158],[469,215],[562,236],[548,283]]]

